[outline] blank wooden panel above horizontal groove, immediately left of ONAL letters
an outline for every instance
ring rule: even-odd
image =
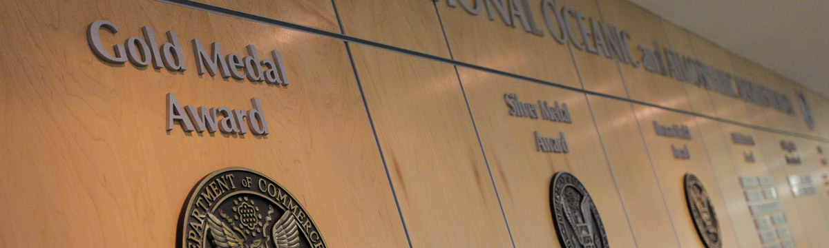
[[[434,3],[337,0],[345,34],[449,58]]]

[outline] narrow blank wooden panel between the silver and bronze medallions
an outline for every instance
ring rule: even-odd
[[[588,101],[638,247],[680,246],[630,103]]]

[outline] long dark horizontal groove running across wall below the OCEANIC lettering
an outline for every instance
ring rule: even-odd
[[[419,52],[419,51],[415,51],[415,50],[407,50],[405,48],[400,48],[400,47],[396,47],[396,46],[393,46],[393,45],[386,45],[386,44],[376,42],[376,41],[368,41],[368,40],[365,40],[365,39],[361,39],[361,38],[357,38],[357,37],[353,37],[353,36],[347,36],[347,35],[343,35],[343,34],[332,32],[332,31],[324,31],[324,30],[309,27],[309,26],[302,26],[302,25],[298,25],[298,24],[288,22],[288,21],[279,21],[279,20],[269,18],[269,17],[261,17],[261,16],[254,15],[254,14],[251,14],[251,13],[248,13],[248,12],[240,12],[240,11],[236,11],[236,10],[225,8],[225,7],[218,7],[218,6],[215,6],[215,5],[206,4],[206,3],[203,3],[203,2],[195,2],[195,1],[189,1],[189,0],[156,0],[156,1],[158,1],[158,2],[167,2],[167,3],[170,3],[170,4],[177,5],[177,6],[182,6],[182,7],[190,7],[190,8],[196,9],[196,10],[205,11],[205,12],[212,12],[212,13],[220,14],[220,15],[227,16],[227,17],[235,17],[235,18],[239,18],[239,19],[242,19],[242,20],[246,20],[246,21],[255,21],[255,22],[259,22],[259,23],[266,24],[266,25],[269,25],[269,26],[279,26],[279,27],[287,28],[287,29],[294,30],[294,31],[303,31],[303,32],[307,32],[307,33],[318,35],[318,36],[325,36],[325,37],[328,37],[328,38],[337,39],[337,40],[340,40],[340,41],[347,41],[347,42],[352,42],[352,43],[361,44],[361,45],[368,45],[368,46],[372,46],[372,47],[379,48],[379,49],[384,49],[384,50],[390,50],[390,51],[403,53],[405,55],[413,55],[413,56],[418,56],[418,57],[428,59],[428,60],[436,60],[436,61],[444,62],[444,63],[447,63],[447,64],[463,66],[463,67],[466,67],[466,68],[469,68],[469,69],[478,69],[478,70],[481,70],[481,71],[486,71],[486,72],[489,72],[489,73],[492,73],[492,74],[499,74],[499,75],[511,77],[511,78],[514,78],[514,79],[521,79],[521,80],[530,81],[530,82],[534,82],[534,83],[541,83],[541,84],[549,85],[549,86],[552,86],[552,87],[564,88],[564,89],[568,89],[568,90],[579,92],[579,93],[586,93],[586,94],[599,96],[599,97],[603,97],[603,98],[612,98],[612,99],[616,99],[616,100],[620,100],[620,101],[625,101],[625,102],[628,102],[628,103],[634,103],[634,104],[644,105],[644,106],[649,106],[649,107],[657,107],[657,108],[660,108],[660,109],[663,109],[663,110],[667,110],[667,111],[671,111],[671,112],[679,112],[679,113],[682,113],[682,114],[691,115],[691,116],[695,116],[695,117],[704,117],[706,119],[710,119],[710,120],[713,120],[713,121],[716,121],[716,122],[723,122],[723,123],[728,123],[728,124],[732,124],[732,125],[736,125],[736,126],[748,127],[748,128],[751,128],[751,129],[754,129],[754,130],[759,130],[759,131],[768,131],[768,132],[778,133],[778,134],[782,134],[782,135],[786,135],[786,136],[796,136],[796,137],[800,137],[800,138],[804,138],[804,139],[808,139],[808,140],[812,140],[812,141],[821,141],[821,142],[829,143],[829,139],[823,138],[823,137],[820,137],[820,136],[810,136],[810,135],[797,133],[797,132],[793,132],[793,131],[778,130],[778,129],[774,129],[774,128],[770,128],[770,127],[766,127],[766,126],[756,126],[756,125],[746,124],[746,123],[743,123],[743,122],[737,122],[737,121],[733,121],[733,120],[729,120],[729,119],[725,119],[725,118],[711,117],[711,116],[704,115],[704,114],[697,113],[697,112],[690,112],[690,111],[671,108],[671,107],[663,107],[663,106],[659,106],[659,105],[656,105],[656,104],[653,104],[653,103],[645,103],[645,102],[638,101],[638,100],[633,100],[633,99],[630,99],[630,98],[622,98],[622,97],[617,97],[617,96],[613,96],[613,95],[609,95],[609,94],[605,94],[605,93],[598,93],[598,92],[594,92],[594,91],[585,90],[583,88],[574,88],[574,87],[570,87],[570,86],[566,86],[566,85],[562,85],[562,84],[558,84],[558,83],[548,82],[548,81],[541,80],[541,79],[534,79],[534,78],[519,75],[519,74],[512,74],[512,73],[508,73],[508,72],[505,72],[505,71],[502,71],[502,70],[491,69],[491,68],[483,67],[483,66],[480,66],[480,65],[477,65],[477,64],[469,64],[469,63],[462,62],[462,61],[457,61],[457,60],[447,59],[447,58],[439,57],[439,56],[435,56],[435,55],[425,54],[423,52]]]

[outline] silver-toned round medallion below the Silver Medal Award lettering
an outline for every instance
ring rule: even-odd
[[[599,210],[596,210],[590,193],[573,174],[562,171],[553,176],[550,207],[561,247],[609,247]]]

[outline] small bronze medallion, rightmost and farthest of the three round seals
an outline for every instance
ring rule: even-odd
[[[711,204],[711,198],[705,192],[705,187],[694,174],[685,174],[685,198],[688,201],[688,211],[691,212],[696,232],[700,234],[705,247],[722,247],[720,222],[717,221],[714,204]]]

